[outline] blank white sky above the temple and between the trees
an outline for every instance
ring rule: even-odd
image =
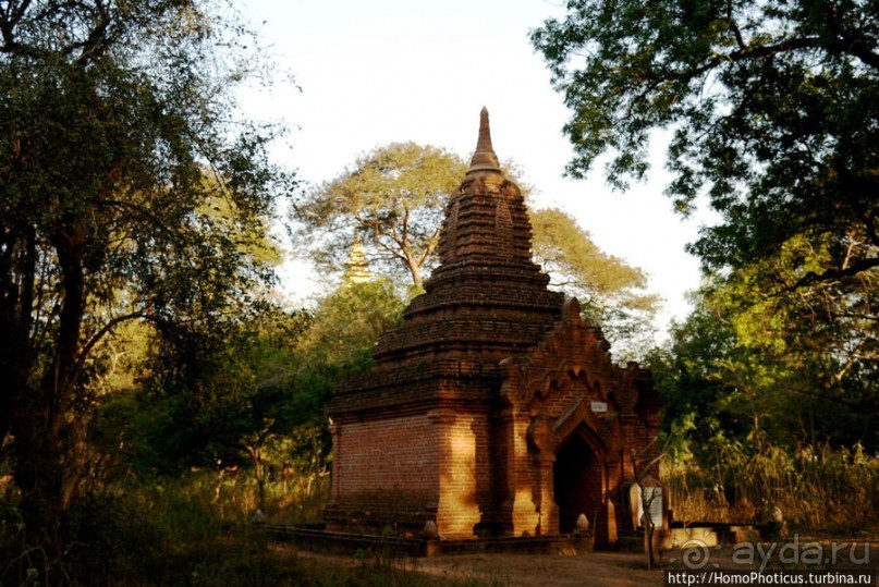
[[[292,85],[246,94],[249,115],[285,122],[274,155],[301,179],[320,183],[357,155],[392,142],[444,147],[469,159],[486,106],[495,151],[512,159],[536,187],[535,207],[572,213],[605,252],[642,268],[661,295],[664,329],[688,311],[698,262],[684,252],[697,220],[684,221],[662,195],[662,150],[649,181],[626,193],[605,184],[599,163],[586,181],[562,176],[572,149],[569,118],[550,86],[528,30],[564,13],[547,0],[244,0],[244,14]],[[314,282],[302,261],[282,271],[292,299]]]

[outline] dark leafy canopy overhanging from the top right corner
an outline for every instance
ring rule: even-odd
[[[879,265],[875,0],[567,7],[532,40],[572,111],[570,173],[610,151],[612,183],[642,179],[651,131],[671,129],[669,194],[686,212],[707,189],[723,218],[692,247],[706,268],[741,267],[795,234],[835,242],[803,283]]]

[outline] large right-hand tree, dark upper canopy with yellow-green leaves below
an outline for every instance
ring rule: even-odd
[[[569,172],[610,152],[611,182],[642,179],[651,133],[672,131],[668,194],[719,212],[689,248],[738,346],[790,392],[879,398],[879,4],[567,8],[532,39],[572,111]]]

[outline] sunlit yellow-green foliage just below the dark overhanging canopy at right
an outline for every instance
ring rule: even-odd
[[[827,239],[822,244],[793,237],[778,253],[718,279],[705,292],[706,304],[730,321],[738,344],[759,357],[756,363],[766,366],[776,387],[799,395],[798,401],[822,400],[854,416],[849,433],[840,427],[837,441],[860,440],[872,450],[879,438],[865,415],[879,408],[879,329],[872,309],[879,281],[867,272],[813,282],[795,295],[784,285],[823,264],[830,246]]]

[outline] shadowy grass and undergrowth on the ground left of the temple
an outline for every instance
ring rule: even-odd
[[[423,575],[405,559],[316,558],[279,549],[252,523],[256,502],[242,484],[218,486],[211,474],[198,473],[105,489],[71,510],[58,561],[28,543],[15,493],[7,491],[0,499],[0,587],[486,584]],[[274,521],[319,515],[319,493],[300,496],[290,506],[291,488],[280,489],[265,503]]]

